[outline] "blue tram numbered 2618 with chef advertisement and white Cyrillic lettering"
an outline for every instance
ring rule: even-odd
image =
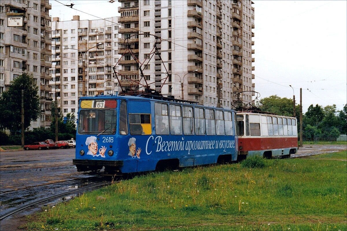
[[[154,96],[79,99],[77,171],[131,173],[235,161],[236,112]]]

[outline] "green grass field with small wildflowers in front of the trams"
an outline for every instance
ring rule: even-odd
[[[45,207],[25,228],[347,230],[346,160],[344,151],[151,173]]]

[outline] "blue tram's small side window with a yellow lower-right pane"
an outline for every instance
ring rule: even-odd
[[[150,135],[151,114],[129,114],[130,134],[132,135]]]

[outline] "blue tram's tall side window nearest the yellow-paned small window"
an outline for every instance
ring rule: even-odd
[[[158,135],[169,135],[169,115],[168,105],[155,103],[155,134]]]

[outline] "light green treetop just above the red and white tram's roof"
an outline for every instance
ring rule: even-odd
[[[293,100],[288,98],[281,98],[277,95],[265,97],[260,100],[263,104],[260,109],[263,112],[271,112],[282,116],[293,116]],[[299,112],[299,107],[295,107]],[[299,113],[296,113],[299,115]]]

